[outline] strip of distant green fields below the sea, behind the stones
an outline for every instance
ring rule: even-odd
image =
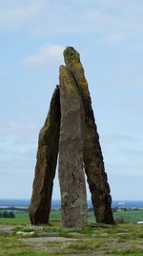
[[[143,221],[143,211],[121,211],[115,212],[113,214],[114,220],[119,222],[136,222]],[[60,211],[51,211],[51,221],[60,221],[61,212]],[[89,212],[88,222],[94,222],[93,212]],[[30,223],[29,215],[27,212],[16,212],[15,219],[0,219],[0,223],[10,223],[10,224],[25,224]]]

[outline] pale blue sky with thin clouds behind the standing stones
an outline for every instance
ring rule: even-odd
[[[142,0],[0,0],[0,198],[31,198],[39,129],[73,46],[112,198],[143,199],[142,13]]]

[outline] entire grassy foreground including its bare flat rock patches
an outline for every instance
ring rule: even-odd
[[[47,256],[121,255],[122,253],[128,255],[128,253],[143,252],[143,226],[89,225],[82,230],[63,230],[59,223],[52,223],[49,226],[0,225],[1,255],[10,255],[10,253],[35,255],[32,254],[34,252]]]

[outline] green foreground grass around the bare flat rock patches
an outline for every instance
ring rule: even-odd
[[[31,231],[30,225],[23,225],[20,228]],[[15,229],[16,230],[16,227]],[[86,228],[76,230],[62,230],[58,222],[51,222],[51,226],[43,226],[42,232],[60,231],[63,237],[76,238],[72,243],[50,242],[41,244],[39,247],[28,244],[17,237],[16,233],[5,235],[0,234],[0,255],[5,256],[53,256],[53,255],[143,255],[143,230],[141,225],[135,223],[117,224],[114,227],[94,227],[89,224]],[[36,231],[37,236],[41,230]],[[81,236],[82,235],[82,236]],[[43,251],[44,249],[44,251]],[[91,254],[90,254],[91,253]],[[131,254],[132,253],[132,254]]]

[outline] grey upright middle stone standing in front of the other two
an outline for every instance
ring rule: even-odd
[[[83,227],[87,198],[83,172],[83,106],[71,72],[60,67],[59,181],[63,227]]]

